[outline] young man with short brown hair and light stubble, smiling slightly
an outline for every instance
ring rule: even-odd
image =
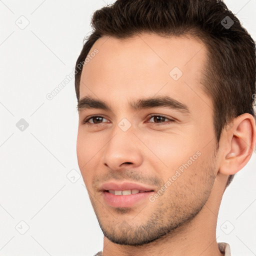
[[[216,222],[255,146],[254,41],[217,0],[117,0],[92,26],[75,90],[96,255],[230,255]]]

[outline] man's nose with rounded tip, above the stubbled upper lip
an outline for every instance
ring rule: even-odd
[[[139,166],[143,160],[143,144],[138,139],[141,135],[135,133],[132,126],[126,131],[116,126],[112,131],[103,149],[103,164],[113,170]]]

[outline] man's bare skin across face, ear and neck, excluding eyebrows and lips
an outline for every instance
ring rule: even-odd
[[[104,233],[103,255],[222,255],[216,242],[219,205],[228,175],[239,171],[252,154],[253,116],[235,118],[215,151],[213,105],[200,83],[206,47],[194,38],[104,36],[89,54],[95,48],[98,53],[82,69],[80,99],[104,100],[112,111],[79,109],[76,150]],[[183,72],[178,80],[169,75],[174,66]],[[167,107],[129,108],[129,101],[164,95],[186,104],[190,113]],[[103,118],[82,123],[94,114]],[[125,132],[118,126],[122,118],[131,124]],[[128,180],[160,189],[197,151],[200,156],[153,202],[145,199],[115,208],[103,200],[99,187],[106,181]]]

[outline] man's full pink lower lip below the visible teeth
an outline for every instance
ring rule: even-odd
[[[103,191],[103,197],[106,203],[112,207],[130,207],[136,202],[139,202],[143,199],[148,199],[152,193],[153,191],[127,195],[116,195],[107,191]]]

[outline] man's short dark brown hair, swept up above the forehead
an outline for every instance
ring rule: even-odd
[[[130,38],[143,32],[162,36],[191,35],[207,48],[204,92],[212,99],[216,150],[223,128],[242,113],[255,117],[255,42],[221,0],[116,0],[93,13],[92,33],[86,37],[75,66],[75,92],[85,60],[103,35]],[[233,179],[229,175],[226,187]]]

